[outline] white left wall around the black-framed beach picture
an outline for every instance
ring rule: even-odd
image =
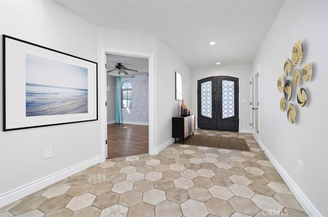
[[[2,1],[0,19],[1,34],[91,61],[97,60],[96,28],[57,3]],[[3,94],[0,95],[2,98]],[[0,102],[0,111],[3,111],[2,99]],[[100,161],[100,149],[97,146],[99,121],[6,132],[2,130],[1,206],[62,179],[60,174],[68,176]],[[53,153],[52,158],[45,159],[47,147],[52,147]]]

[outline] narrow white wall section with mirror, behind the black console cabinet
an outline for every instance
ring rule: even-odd
[[[175,71],[182,76],[182,99],[191,105],[191,68],[161,40],[157,40],[157,136],[158,144],[172,143],[172,117],[180,115],[175,100]],[[164,146],[164,145],[163,145]]]

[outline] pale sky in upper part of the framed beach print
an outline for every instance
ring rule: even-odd
[[[26,54],[26,83],[88,89],[88,69]]]

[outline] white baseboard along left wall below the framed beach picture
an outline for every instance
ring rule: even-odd
[[[40,189],[52,185],[60,180],[72,176],[100,162],[101,162],[101,156],[100,155],[95,156],[83,162],[67,167],[64,170],[55,172],[53,174],[37,179],[23,186],[17,187],[13,190],[7,191],[0,195],[0,207],[4,207],[8,204],[11,204],[19,199],[22,199],[30,194],[33,194],[34,192]]]

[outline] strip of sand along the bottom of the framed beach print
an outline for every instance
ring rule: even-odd
[[[67,100],[50,105],[29,108],[28,116],[88,113],[88,99]]]

